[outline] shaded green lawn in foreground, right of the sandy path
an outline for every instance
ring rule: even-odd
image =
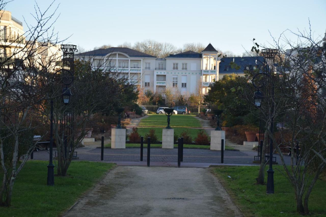
[[[283,170],[282,166],[274,167]],[[278,170],[274,169],[273,195],[266,194],[266,185],[255,184],[258,166],[217,166],[211,167],[211,171],[219,178],[245,216],[300,216],[296,212],[293,187]],[[318,180],[309,197],[311,216],[326,216],[325,198],[326,182]]]

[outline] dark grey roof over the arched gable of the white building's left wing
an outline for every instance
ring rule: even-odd
[[[147,53],[139,52],[130,48],[106,48],[106,49],[97,49],[94,51],[87,51],[83,53],[76,54],[77,56],[105,56],[111,52],[121,52],[126,53],[130,57],[152,57],[156,58],[156,56],[148,55]]]

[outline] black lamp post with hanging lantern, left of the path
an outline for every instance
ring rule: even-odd
[[[56,73],[62,71],[62,74],[66,74],[66,76],[62,79],[62,82],[65,85],[70,85],[73,81],[73,74],[67,70],[67,69],[61,69],[59,71],[57,71]],[[70,76],[67,76],[67,74]],[[71,91],[68,88],[68,86],[66,86],[63,90],[62,90],[62,102],[65,105],[68,105],[69,101],[70,101],[70,97],[71,97]],[[47,177],[47,185],[54,185],[54,165],[53,165],[53,99],[51,98],[51,108],[50,108],[50,160],[49,160],[49,165],[48,167],[48,177]]]

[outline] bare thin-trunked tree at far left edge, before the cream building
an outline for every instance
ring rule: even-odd
[[[0,1],[1,9],[5,5]],[[17,174],[37,145],[33,143],[35,120],[40,118],[39,108],[47,99],[49,73],[53,73],[58,61],[57,53],[50,50],[60,43],[51,30],[57,7],[53,12],[51,9],[52,4],[42,12],[36,4],[32,15],[36,24],[26,23],[24,36],[13,38],[8,31],[4,41],[9,43],[0,42],[2,48],[11,50],[0,63],[0,161],[4,171],[0,206],[11,205]]]

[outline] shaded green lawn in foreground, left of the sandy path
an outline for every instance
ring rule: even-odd
[[[0,216],[58,216],[69,209],[86,190],[114,164],[73,161],[68,176],[54,177],[47,186],[47,161],[28,161],[13,187],[12,206],[0,207]],[[56,173],[56,169],[54,168]],[[3,173],[0,170],[2,180]]]

